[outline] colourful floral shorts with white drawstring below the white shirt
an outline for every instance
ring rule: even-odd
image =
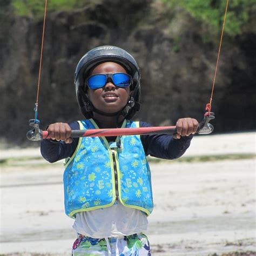
[[[72,256],[150,256],[150,245],[143,233],[117,238],[91,238],[78,234]]]

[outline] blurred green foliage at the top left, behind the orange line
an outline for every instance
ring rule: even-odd
[[[83,6],[90,1],[86,0],[49,0],[48,11],[71,10]],[[41,17],[44,14],[44,0],[12,0],[15,12],[19,16]]]

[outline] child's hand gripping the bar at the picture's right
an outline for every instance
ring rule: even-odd
[[[196,133],[199,123],[196,119],[186,117],[178,119],[176,123],[177,133],[173,134],[174,139],[180,139],[181,136],[189,136],[190,134]]]

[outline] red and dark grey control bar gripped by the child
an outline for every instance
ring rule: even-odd
[[[204,116],[204,119],[199,123],[198,134],[210,134],[213,131],[213,125],[210,120],[214,119],[214,113]],[[39,120],[30,119],[30,126],[32,130],[26,133],[26,137],[32,141],[39,141],[48,139],[48,131],[39,129]],[[174,134],[176,133],[176,126],[158,126],[158,127],[137,127],[137,128],[115,128],[115,129],[90,129],[90,130],[72,130],[71,138],[78,137],[108,137],[108,136],[122,136],[122,135],[138,135],[138,134]]]

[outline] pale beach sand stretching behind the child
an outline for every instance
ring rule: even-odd
[[[255,154],[255,135],[197,136],[184,159]],[[0,255],[71,255],[76,233],[64,213],[63,165],[39,156],[38,148],[0,149],[0,160],[23,158],[0,165]],[[152,255],[256,255],[255,157],[216,159],[150,163]]]

